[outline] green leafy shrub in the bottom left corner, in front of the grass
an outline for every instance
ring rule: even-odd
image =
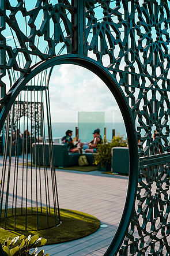
[[[43,256],[44,250],[40,250],[39,253],[37,252],[36,247],[44,246],[47,243],[47,239],[39,238],[38,235],[31,236],[29,235],[28,238],[25,238],[24,235],[16,236],[16,238],[8,238],[5,243],[2,245],[2,249],[7,256]],[[30,253],[30,250],[35,248],[35,251]],[[50,254],[47,253],[44,256],[49,256]]]

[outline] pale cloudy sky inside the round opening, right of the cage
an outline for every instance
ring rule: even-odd
[[[59,122],[74,122],[75,113],[81,111],[112,112],[118,109],[115,98],[99,77],[88,69],[69,64],[54,68],[50,102],[52,120]]]

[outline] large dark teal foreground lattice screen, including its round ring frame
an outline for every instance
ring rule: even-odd
[[[96,73],[118,102],[130,150],[126,205],[105,255],[168,255],[169,1],[37,1],[32,10],[23,1],[16,6],[10,2],[1,1],[0,10],[0,128],[19,92],[37,73],[62,63]],[[18,25],[18,12],[27,18],[27,31]],[[18,45],[9,45],[9,34]],[[3,77],[9,73],[7,90]],[[47,77],[49,81],[50,72]]]

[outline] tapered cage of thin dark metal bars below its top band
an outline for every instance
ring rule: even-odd
[[[1,227],[17,231],[59,225],[48,88],[27,85],[13,103],[4,126]]]

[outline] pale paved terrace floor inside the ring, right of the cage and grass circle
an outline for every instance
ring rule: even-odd
[[[98,171],[80,173],[59,171],[60,207],[80,210],[99,218],[106,228],[85,238],[44,247],[52,255],[103,255],[118,227],[126,199],[129,178],[104,175]]]

